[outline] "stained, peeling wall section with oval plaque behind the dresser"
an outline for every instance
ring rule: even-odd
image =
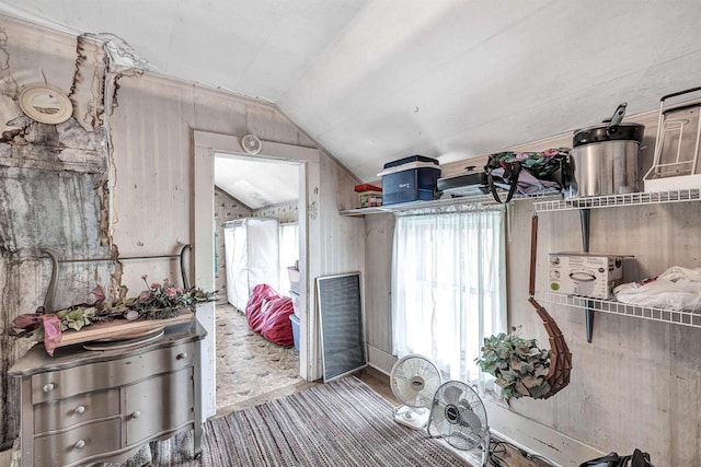
[[[104,67],[87,55],[100,57],[102,46],[0,21],[0,448],[19,431],[19,392],[7,371],[30,346],[7,331],[14,317],[44,303],[51,264],[42,249],[61,259],[110,256]],[[44,125],[20,110],[22,86],[44,81],[70,93],[68,121]],[[113,272],[108,261],[60,264],[55,307],[87,300]]]

